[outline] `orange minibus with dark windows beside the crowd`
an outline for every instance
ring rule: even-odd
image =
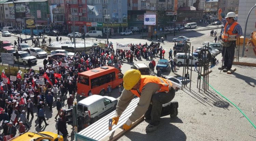
[[[122,82],[123,74],[117,68],[98,67],[78,74],[77,94],[87,97],[89,90],[91,90],[92,94],[104,95],[108,85],[115,88]]]

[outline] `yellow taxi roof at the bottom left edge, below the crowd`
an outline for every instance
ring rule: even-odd
[[[64,141],[63,137],[48,131],[39,133],[26,132],[10,139],[9,141]]]

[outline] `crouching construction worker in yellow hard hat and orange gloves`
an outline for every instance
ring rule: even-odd
[[[119,117],[132,101],[134,95],[140,98],[132,115],[123,125],[123,129],[130,129],[132,122],[144,115],[146,119],[150,120],[146,131],[152,132],[159,126],[160,117],[169,114],[170,117],[177,116],[178,102],[171,102],[175,96],[176,87],[170,80],[157,76],[141,75],[140,71],[130,69],[123,76],[123,87],[124,90],[118,98],[116,113],[112,118],[114,124],[118,123]]]

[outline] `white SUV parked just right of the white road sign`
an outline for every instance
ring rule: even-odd
[[[30,55],[26,51],[18,51],[19,54],[19,63],[22,63],[24,66],[28,64],[28,59],[30,59],[31,63],[37,63],[37,57]],[[16,59],[16,52],[13,52],[13,59],[15,62],[18,62]]]

